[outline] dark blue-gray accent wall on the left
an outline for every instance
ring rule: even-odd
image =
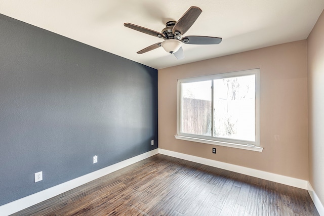
[[[0,15],[0,205],[155,148],[156,69]]]

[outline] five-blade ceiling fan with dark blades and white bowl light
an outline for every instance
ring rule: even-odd
[[[195,45],[211,45],[219,44],[222,41],[221,37],[210,37],[210,36],[185,36],[183,34],[192,26],[196,21],[202,10],[198,7],[191,6],[184,15],[176,21],[169,21],[166,23],[166,27],[162,32],[157,32],[148,28],[144,28],[131,23],[124,23],[125,27],[156,36],[164,39],[163,42],[153,44],[143,50],[138,51],[138,54],[146,53],[159,47],[163,47],[165,51],[173,54],[177,59],[183,59],[184,54],[181,47],[181,42],[184,44],[195,44]]]

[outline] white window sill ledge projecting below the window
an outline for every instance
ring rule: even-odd
[[[225,147],[231,147],[231,148],[237,148],[237,149],[245,149],[250,151],[258,151],[262,152],[263,148],[259,146],[248,146],[243,144],[234,144],[234,143],[225,143],[220,141],[214,141],[214,140],[205,140],[200,138],[192,138],[192,137],[184,137],[184,136],[175,136],[176,139],[179,140],[186,140],[186,141],[192,141],[192,142],[198,142],[198,143],[206,143],[206,144],[212,144],[212,145],[218,145],[218,146],[225,146]]]

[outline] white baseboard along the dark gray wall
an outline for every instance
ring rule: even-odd
[[[84,184],[91,182],[95,179],[98,179],[98,178],[103,177],[107,174],[110,174],[111,172],[114,172],[118,169],[124,168],[124,167],[129,166],[133,163],[136,163],[138,161],[141,161],[148,157],[151,157],[155,154],[158,154],[158,149],[154,149],[152,151],[145,152],[141,155],[129,158],[127,160],[112,164],[110,166],[107,166],[105,168],[99,169],[94,172],[91,172],[90,174],[78,177],[76,179],[72,179],[70,181],[64,182],[62,184],[56,185],[56,186],[48,188],[46,190],[39,191],[38,193],[35,193],[32,195],[23,197],[21,199],[15,200],[13,202],[7,203],[5,205],[0,206],[0,216],[6,216],[9,214],[13,214],[13,213],[23,210],[27,207],[35,205],[39,202],[43,202],[44,200],[47,200],[47,199],[57,196],[61,193],[69,191],[69,190],[76,188],[80,185],[84,185]]]

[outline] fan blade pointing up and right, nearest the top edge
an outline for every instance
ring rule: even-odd
[[[192,24],[201,14],[202,10],[198,7],[191,6],[184,15],[178,20],[178,22],[173,26],[172,32],[175,33],[179,31],[181,35],[186,33]]]

